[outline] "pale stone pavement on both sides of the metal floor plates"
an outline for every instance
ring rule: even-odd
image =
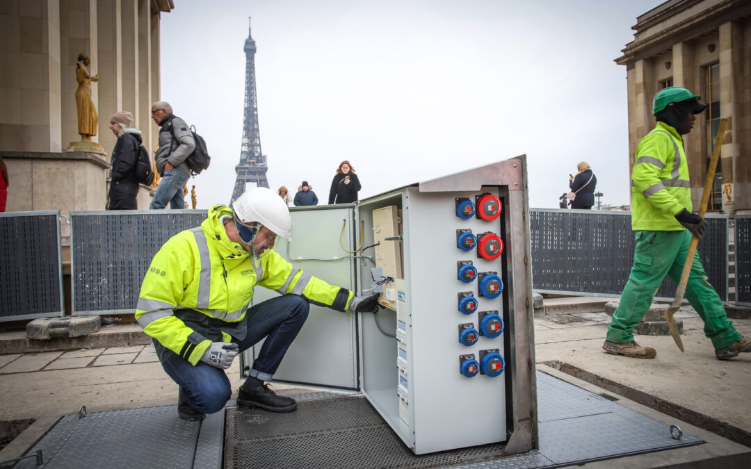
[[[686,353],[680,353],[670,335],[638,335],[640,344],[656,348],[655,359],[608,355],[601,347],[610,318],[596,306],[606,299],[554,300],[546,300],[547,306],[563,306],[547,308],[547,314],[535,312],[535,361],[540,368],[555,368],[599,386],[601,392],[659,410],[665,419],[751,446],[751,353],[716,360],[701,319],[683,308],[677,317],[684,322]],[[578,301],[580,311],[572,307]],[[602,311],[593,311],[597,308]],[[736,319],[734,324],[743,335],[751,335],[751,319]],[[75,413],[82,404],[97,411],[176,402],[176,384],[164,374],[136,324],[103,328],[87,337],[92,347],[82,348],[82,342],[75,341],[71,344],[76,350],[50,350],[52,341],[30,343],[20,332],[0,334],[0,421],[47,421]],[[237,390],[242,383],[239,360],[228,377]]]

